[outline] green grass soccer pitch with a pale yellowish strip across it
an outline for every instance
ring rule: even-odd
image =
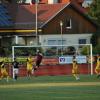
[[[81,75],[76,81],[72,76],[39,76],[18,81],[0,81],[0,100],[99,100],[100,79]]]

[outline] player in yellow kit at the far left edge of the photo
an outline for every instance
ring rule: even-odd
[[[1,68],[1,77],[0,77],[0,80],[2,80],[3,78],[6,78],[6,80],[8,82],[9,81],[9,75],[8,75],[7,70],[6,70],[6,66],[5,66],[4,61],[0,62],[0,68]]]

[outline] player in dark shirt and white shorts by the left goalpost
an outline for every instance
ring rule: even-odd
[[[16,58],[14,58],[14,62],[12,63],[13,66],[13,78],[14,80],[17,80],[18,73],[19,73],[19,63]]]

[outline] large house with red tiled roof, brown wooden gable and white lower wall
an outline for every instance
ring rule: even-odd
[[[55,4],[44,4],[41,1],[42,4],[37,5],[37,35],[41,45],[59,45],[61,33],[64,45],[90,43],[92,34],[97,31],[97,25],[87,17],[83,7],[67,1]],[[8,28],[0,27],[1,46],[7,45],[5,40],[22,45],[36,44],[36,5],[5,4],[5,6],[14,24]]]

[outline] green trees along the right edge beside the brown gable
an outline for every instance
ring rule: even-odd
[[[93,53],[100,53],[100,0],[93,0],[93,3],[90,5],[89,16],[94,20],[98,25],[98,30],[91,37],[91,43],[93,45]]]

